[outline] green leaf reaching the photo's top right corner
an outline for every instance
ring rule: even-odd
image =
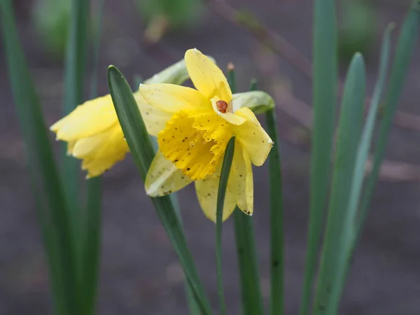
[[[363,225],[367,217],[370,200],[372,199],[374,186],[379,175],[381,162],[384,160],[386,141],[388,140],[393,116],[395,115],[398,100],[400,99],[402,93],[402,87],[404,86],[405,79],[407,78],[409,62],[411,61],[414,49],[416,48],[417,38],[419,38],[419,27],[420,1],[413,1],[412,8],[407,13],[398,36],[390,82],[386,93],[384,112],[381,118],[381,125],[379,127],[379,137],[376,147],[374,148],[372,173],[367,179],[365,192],[363,193],[363,197],[360,202],[360,209],[358,211],[356,240],[353,243],[353,250],[358,244],[358,239],[360,238]]]

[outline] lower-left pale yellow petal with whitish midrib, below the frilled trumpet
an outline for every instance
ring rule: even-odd
[[[191,179],[177,169],[174,163],[167,160],[159,151],[146,176],[146,193],[152,197],[164,196],[184,188]]]

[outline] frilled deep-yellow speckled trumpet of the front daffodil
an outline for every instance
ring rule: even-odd
[[[165,158],[195,181],[216,172],[230,137],[230,125],[214,111],[180,111],[158,134],[158,144]]]

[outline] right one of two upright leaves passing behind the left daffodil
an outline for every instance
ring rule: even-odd
[[[92,56],[92,76],[90,78],[90,99],[97,97],[97,80],[99,65],[99,46],[101,42],[102,20],[104,15],[105,0],[99,3],[99,13],[97,16],[96,33],[93,38],[93,56]],[[85,214],[83,216],[83,239],[82,260],[81,260],[81,280],[84,290],[83,313],[93,315],[95,313],[98,278],[99,278],[99,261],[101,251],[101,232],[102,232],[102,179],[95,177],[87,181],[87,202]]]

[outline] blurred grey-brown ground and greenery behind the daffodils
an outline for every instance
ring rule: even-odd
[[[61,117],[69,2],[15,0],[20,39],[49,124]],[[109,93],[109,64],[129,80],[137,74],[148,78],[181,59],[188,48],[198,48],[222,69],[235,63],[239,91],[256,78],[274,96],[285,191],[287,314],[297,313],[307,237],[312,5],[309,0],[107,0],[99,59],[99,94]],[[98,6],[92,1],[92,25]],[[337,6],[342,73],[353,52],[363,52],[370,94],[381,32],[389,22],[398,31],[409,1],[339,0]],[[51,314],[48,269],[1,45],[0,314]],[[340,314],[419,314],[419,73],[416,53]],[[254,186],[253,219],[267,297],[265,166],[255,169]],[[215,225],[202,214],[192,186],[179,197],[190,248],[216,307]],[[224,227],[225,297],[228,314],[239,314],[232,220]],[[102,240],[98,314],[187,314],[181,267],[130,156],[104,175]]]

